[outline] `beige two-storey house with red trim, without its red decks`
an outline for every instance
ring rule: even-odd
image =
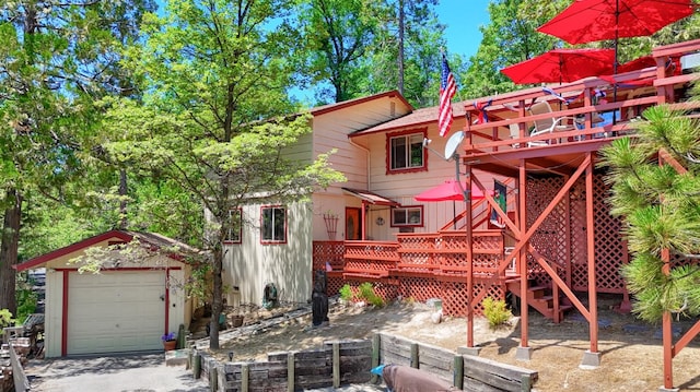
[[[455,104],[454,110],[453,129],[462,129],[464,105]],[[262,305],[270,284],[281,301],[305,304],[312,293],[314,241],[394,241],[398,233],[436,231],[465,210],[464,202],[413,199],[455,176],[454,162],[440,153],[447,139],[438,135],[438,108],[416,110],[390,91],[310,111],[312,132],[292,153],[311,161],[337,150],[329,163],[347,181],[315,192],[310,202],[249,200],[232,212],[254,224],[238,225],[241,231],[224,242],[228,305]],[[424,139],[434,140],[431,150],[423,149]]]

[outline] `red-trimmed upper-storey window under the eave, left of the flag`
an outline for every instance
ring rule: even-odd
[[[387,135],[387,173],[427,170],[423,149],[425,131],[407,131]]]

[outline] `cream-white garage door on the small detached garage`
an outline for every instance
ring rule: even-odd
[[[165,272],[71,273],[68,355],[163,348]]]

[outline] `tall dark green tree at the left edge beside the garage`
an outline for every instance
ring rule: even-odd
[[[0,8],[0,307],[14,312],[14,270],[27,198],[69,203],[81,178],[92,99],[109,84],[115,31],[144,0],[11,1]]]

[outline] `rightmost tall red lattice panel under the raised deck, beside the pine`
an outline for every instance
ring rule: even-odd
[[[625,280],[620,275],[620,266],[627,259],[626,245],[620,234],[621,221],[610,215],[610,205],[606,202],[609,195],[609,187],[604,181],[603,175],[594,175],[593,178],[593,211],[595,217],[595,275],[596,288],[600,293],[625,293]],[[586,262],[586,233],[585,233],[585,182],[580,179],[576,183],[576,192],[572,192],[572,231],[579,230],[581,238],[573,239],[572,248],[572,283],[574,289],[588,289],[588,269]],[[579,194],[576,209],[573,209],[573,195]],[[575,233],[575,231],[574,231]]]

